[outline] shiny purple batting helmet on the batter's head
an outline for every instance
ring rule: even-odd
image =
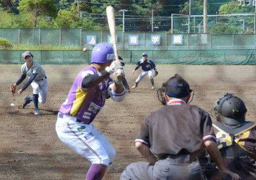
[[[106,63],[114,59],[114,49],[107,43],[100,43],[92,49],[91,63]]]

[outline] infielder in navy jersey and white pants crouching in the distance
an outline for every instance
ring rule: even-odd
[[[134,74],[135,71],[137,69],[139,69],[140,66],[142,68],[142,71],[141,71],[140,75],[138,76],[138,78],[135,80],[135,84],[132,88],[133,89],[136,88],[137,85],[139,84],[139,82],[142,80],[142,78],[144,78],[147,74],[150,79],[150,82],[152,84],[151,89],[155,89],[154,75],[155,76],[158,75],[158,71],[156,69],[155,63],[152,60],[147,59],[147,53],[142,54],[142,59],[137,62],[136,67],[132,71],[132,73]],[[155,73],[153,72],[153,70],[155,71]]]

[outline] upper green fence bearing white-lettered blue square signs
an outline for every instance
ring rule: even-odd
[[[109,31],[75,29],[1,28],[0,37],[12,44],[87,47],[109,43]],[[94,37],[93,40],[90,38]],[[170,34],[116,31],[118,50],[256,49],[256,34]],[[132,40],[131,40],[132,39]],[[131,42],[133,41],[133,42]]]

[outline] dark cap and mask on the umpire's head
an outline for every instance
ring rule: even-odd
[[[170,97],[183,98],[188,96],[192,91],[193,90],[189,88],[189,84],[179,74],[175,74],[173,77],[162,84],[162,87],[158,89],[157,93],[159,101],[164,106],[166,106],[167,103],[163,93]],[[188,104],[193,100],[193,96]]]

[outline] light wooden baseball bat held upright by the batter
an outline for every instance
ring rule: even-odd
[[[113,42],[115,59],[118,60],[118,51],[117,51],[117,45],[116,45],[115,11],[114,11],[114,8],[112,6],[108,6],[106,8],[106,12],[107,12],[108,24],[109,24],[109,28],[110,28],[111,40]]]

